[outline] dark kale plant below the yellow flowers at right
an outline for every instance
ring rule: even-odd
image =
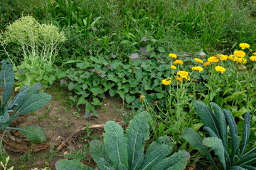
[[[214,150],[224,170],[255,170],[256,147],[247,149],[250,140],[251,115],[245,113],[242,141],[240,141],[238,127],[235,124],[233,115],[229,111],[221,109],[213,102],[210,103],[210,106],[213,107],[214,112],[202,101],[195,101],[194,106],[199,118],[203,121],[203,125],[205,125],[204,130],[209,133],[210,137],[203,139],[191,128],[187,129],[182,137],[204,154],[215,166],[215,169],[221,168],[217,166],[210,154],[211,149]],[[240,142],[242,142],[241,145]]]

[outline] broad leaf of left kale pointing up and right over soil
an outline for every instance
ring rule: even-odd
[[[50,99],[50,94],[32,94],[31,96],[29,96],[29,98],[26,98],[26,101],[22,104],[18,115],[37,111],[39,108],[45,106],[50,101]]]

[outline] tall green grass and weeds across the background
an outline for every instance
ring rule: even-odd
[[[149,44],[156,49],[164,47],[166,52],[210,53],[230,52],[240,42],[256,41],[253,1],[42,0],[39,6],[4,2],[7,7],[0,8],[1,13],[7,13],[7,8],[16,12],[3,16],[6,21],[33,13],[65,30],[69,40],[60,50],[57,64],[99,54],[128,61],[129,53]],[[2,22],[0,28],[6,24]],[[145,37],[147,40],[142,40]]]

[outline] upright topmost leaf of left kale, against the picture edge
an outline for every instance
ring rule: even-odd
[[[0,86],[4,87],[3,106],[6,106],[9,98],[11,97],[15,74],[12,68],[13,65],[9,64],[8,60],[3,60],[1,63]]]

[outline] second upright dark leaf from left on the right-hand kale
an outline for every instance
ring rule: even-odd
[[[225,115],[223,110],[217,104],[211,102],[210,106],[213,106],[215,117],[218,123],[218,130],[220,131],[219,138],[222,140],[223,145],[226,150],[228,150],[228,132],[227,132],[227,123],[225,120]]]

